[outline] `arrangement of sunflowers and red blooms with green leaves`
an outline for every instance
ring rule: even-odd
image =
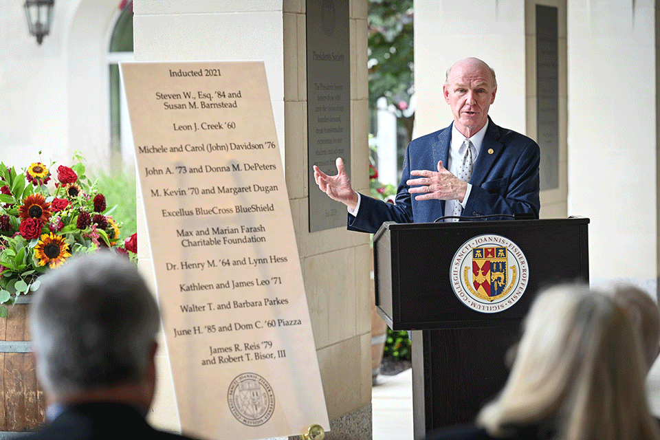
[[[56,174],[34,162],[23,173],[0,163],[0,318],[17,296],[39,287],[39,276],[70,256],[110,248],[137,260],[137,234],[119,243],[122,223],[85,176],[83,158]]]

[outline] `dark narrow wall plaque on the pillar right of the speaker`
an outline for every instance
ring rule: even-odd
[[[541,190],[559,188],[558,12],[536,5],[536,126]]]

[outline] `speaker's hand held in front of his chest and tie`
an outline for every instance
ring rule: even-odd
[[[465,192],[467,192],[467,182],[450,173],[442,161],[438,162],[438,170],[412,170],[412,176],[422,176],[418,179],[409,179],[406,184],[410,194],[419,194],[415,200],[458,200],[463,202]]]

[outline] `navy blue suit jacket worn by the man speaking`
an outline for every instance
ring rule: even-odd
[[[525,135],[497,126],[488,118],[488,128],[470,178],[472,190],[462,215],[531,213],[538,219],[538,144]],[[410,142],[396,203],[360,195],[358,215],[349,214],[349,230],[373,233],[385,221],[430,223],[443,217],[444,200],[417,201],[408,192],[406,181],[411,177],[410,170],[437,171],[439,160],[446,167],[451,137],[452,125]]]

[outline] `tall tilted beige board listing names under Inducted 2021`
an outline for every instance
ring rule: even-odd
[[[329,430],[263,62],[121,70],[181,430]]]

